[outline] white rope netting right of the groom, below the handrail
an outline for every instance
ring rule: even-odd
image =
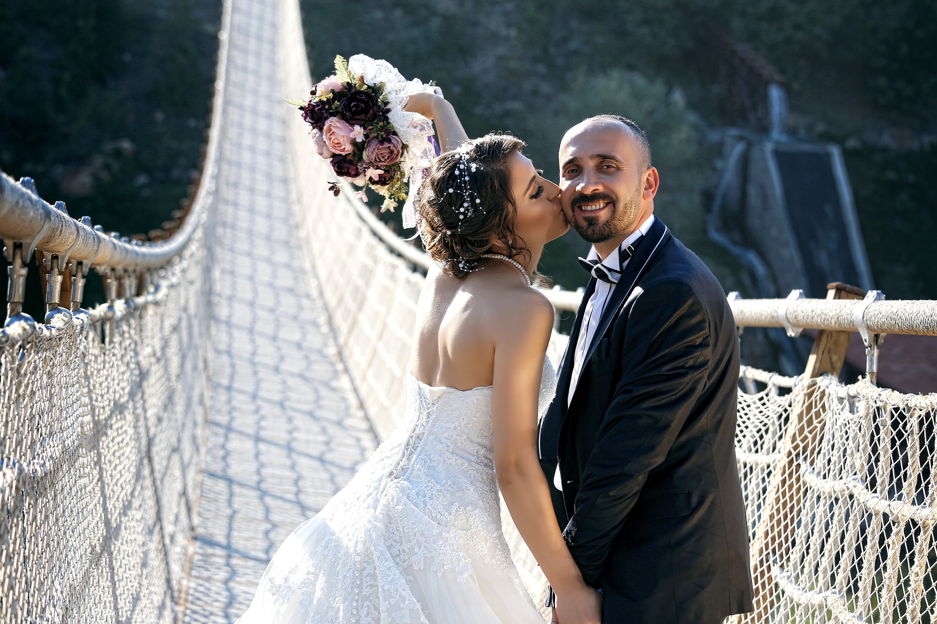
[[[937,394],[783,381],[739,392],[757,609],[736,619],[937,621]]]

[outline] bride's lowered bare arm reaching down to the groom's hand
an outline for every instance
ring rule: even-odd
[[[514,524],[557,593],[560,624],[599,622],[598,594],[586,585],[563,541],[537,458],[537,404],[553,306],[533,290],[496,313],[492,424],[498,486]]]

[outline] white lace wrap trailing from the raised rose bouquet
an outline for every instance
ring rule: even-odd
[[[416,227],[416,208],[413,206],[413,196],[420,188],[429,167],[436,158],[436,147],[433,142],[433,122],[417,112],[404,110],[411,94],[430,93],[441,95],[438,86],[424,84],[423,80],[415,78],[406,80],[394,65],[383,59],[372,59],[364,54],[355,54],[349,59],[349,70],[364,77],[367,84],[384,85],[384,94],[387,95],[388,108],[391,109],[388,117],[394,124],[397,136],[407,146],[406,152],[400,159],[406,178],[409,181],[411,193],[407,196],[401,210],[404,227]]]

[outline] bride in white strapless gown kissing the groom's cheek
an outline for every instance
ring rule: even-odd
[[[426,276],[407,415],[350,484],[277,550],[241,624],[543,622],[501,532],[498,486],[557,594],[561,624],[597,623],[536,452],[555,391],[549,301],[530,288],[568,229],[559,188],[509,135],[468,139],[453,107],[413,94],[449,151],[419,190]]]

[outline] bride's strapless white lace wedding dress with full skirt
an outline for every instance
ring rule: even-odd
[[[543,365],[540,412],[556,392]],[[240,624],[543,624],[501,530],[491,386],[409,375],[404,423],[277,550]]]

